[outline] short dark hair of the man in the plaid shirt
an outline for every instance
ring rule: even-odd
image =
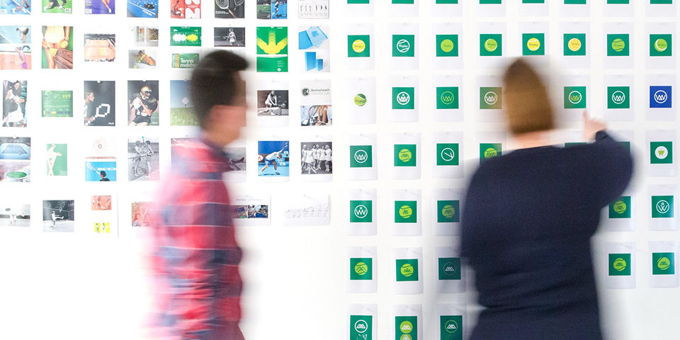
[[[239,94],[237,74],[248,67],[243,57],[217,50],[203,57],[191,74],[191,101],[201,128],[208,128],[212,106],[233,105]]]

